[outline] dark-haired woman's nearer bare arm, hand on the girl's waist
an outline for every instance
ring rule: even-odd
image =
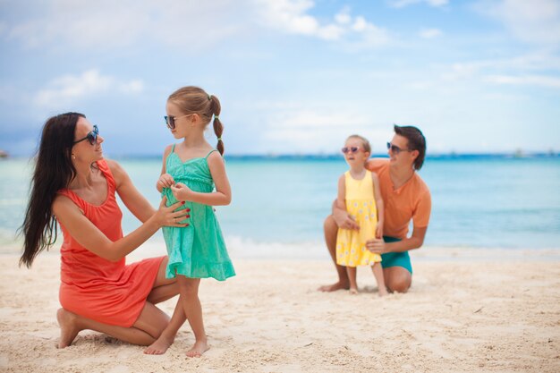
[[[58,223],[64,225],[72,238],[81,246],[103,259],[118,261],[146,242],[161,226],[186,226],[174,223],[175,218],[181,221],[187,214],[184,209],[174,212],[176,208],[181,207],[181,202],[167,208],[165,200],[162,199],[156,213],[149,216],[143,225],[115,242],[109,240],[96,225],[93,225],[68,197],[58,195],[55,198],[53,214]]]

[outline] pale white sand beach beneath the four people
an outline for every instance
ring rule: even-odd
[[[5,372],[560,371],[560,250],[418,250],[411,291],[386,298],[367,268],[352,296],[317,291],[335,279],[327,259],[234,260],[238,276],[201,285],[200,359],[184,355],[188,325],[162,356],[90,331],[56,349],[58,255],[17,260],[0,257]]]

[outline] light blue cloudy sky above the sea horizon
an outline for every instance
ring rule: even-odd
[[[383,152],[392,123],[432,153],[560,151],[560,1],[0,0],[13,155],[67,111],[109,157],[158,155],[183,85],[220,98],[229,154],[335,153],[352,133]]]

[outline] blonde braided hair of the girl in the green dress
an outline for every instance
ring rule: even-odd
[[[216,133],[217,144],[216,149],[221,155],[224,155],[224,141],[222,141],[222,132],[224,125],[219,119],[222,111],[220,100],[214,95],[208,95],[204,89],[199,87],[182,87],[175,90],[167,101],[173,102],[182,111],[182,114],[198,114],[203,123],[210,123],[212,115],[214,115],[214,133]]]

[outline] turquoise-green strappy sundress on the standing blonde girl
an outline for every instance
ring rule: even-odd
[[[173,176],[175,182],[182,182],[192,191],[210,193],[214,191],[214,181],[207,160],[214,151],[217,150],[211,150],[206,157],[182,162],[173,146],[165,159],[165,171]],[[170,188],[164,188],[163,196],[167,197],[167,206],[177,202]],[[224,281],[235,276],[214,208],[191,201],[186,201],[182,208],[191,208],[190,217],[182,221],[189,225],[163,227],[169,256],[165,277],[174,278],[177,274],[191,278],[213,277]]]

